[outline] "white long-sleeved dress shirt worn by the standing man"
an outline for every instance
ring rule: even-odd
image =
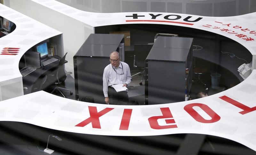
[[[111,63],[105,67],[103,72],[103,93],[108,97],[108,86],[116,84],[127,84],[131,82],[130,67],[127,63],[120,62],[118,67],[113,67]]]

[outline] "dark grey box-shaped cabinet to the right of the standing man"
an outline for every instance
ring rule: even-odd
[[[192,41],[193,38],[157,37],[145,61],[145,104],[185,101],[192,85]]]

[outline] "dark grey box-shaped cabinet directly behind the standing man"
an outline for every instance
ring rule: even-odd
[[[109,55],[123,43],[123,34],[90,34],[74,55],[76,100],[92,96],[104,104],[103,71],[110,63]]]

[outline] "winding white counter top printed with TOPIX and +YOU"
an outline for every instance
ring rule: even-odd
[[[173,13],[137,12],[138,15],[144,15],[145,17],[132,19],[132,17],[125,16],[131,16],[136,12],[92,13],[77,10],[57,1],[34,1],[90,26],[146,23],[186,26],[210,31],[237,41],[247,48],[253,57],[256,55],[256,22],[254,20],[256,13],[234,17],[204,17],[175,13],[181,18],[178,20],[166,20],[164,16]],[[156,19],[151,19],[149,13],[162,15]],[[31,18],[24,17],[24,15],[3,5],[0,5],[0,15],[10,19],[17,26],[13,33],[0,39],[0,48],[20,48],[20,54],[18,55],[0,55],[1,84],[5,80],[12,80],[21,76],[18,63],[23,53],[36,43],[60,34],[60,32]],[[191,20],[199,17],[202,19],[198,22],[185,22],[183,19],[188,16],[192,16]],[[172,16],[172,18],[175,17]],[[184,23],[192,23],[193,25]],[[240,26],[242,28],[239,28]],[[25,29],[24,27],[27,28]],[[241,37],[242,34],[245,36]],[[246,41],[248,38],[252,40]],[[252,74],[242,83],[224,92],[201,99],[171,104],[147,106],[102,105],[69,100],[40,91],[1,101],[0,120],[27,122],[51,129],[95,135],[147,136],[199,133],[228,138],[256,151],[256,111],[253,111],[256,108],[252,108],[256,106],[255,88],[256,70],[253,70]],[[227,96],[230,103],[220,99],[222,96]],[[201,106],[201,109],[197,106]],[[252,112],[239,113],[246,108],[248,110],[252,108]],[[194,115],[192,114],[193,109],[197,112]],[[124,111],[127,114],[125,116],[123,116]],[[202,117],[195,120],[190,114],[194,117],[199,115]],[[166,117],[163,117],[163,115]],[[94,117],[94,119],[90,116]],[[131,116],[130,119],[129,116]],[[97,119],[98,117],[99,119]],[[76,126],[84,120],[87,120],[87,125],[84,127]],[[94,120],[93,123],[91,122],[92,120]],[[168,122],[168,120],[172,120],[172,122]],[[120,129],[120,126],[123,129]]]

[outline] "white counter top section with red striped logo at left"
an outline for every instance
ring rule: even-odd
[[[0,4],[0,16],[16,24],[16,29],[0,38],[0,84],[21,78],[19,61],[21,56],[37,43],[61,34],[61,32]],[[8,54],[6,48],[18,48],[17,53]],[[10,53],[9,53],[10,54]]]

